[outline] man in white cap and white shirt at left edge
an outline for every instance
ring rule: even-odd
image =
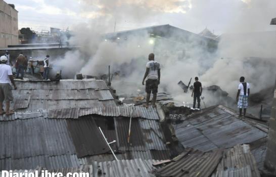
[[[8,58],[6,56],[0,57],[0,115],[5,112],[2,110],[3,102],[6,102],[6,115],[14,114],[10,110],[11,101],[13,101],[13,93],[11,82],[16,90],[16,84],[14,82],[13,73],[11,66],[7,65]]]

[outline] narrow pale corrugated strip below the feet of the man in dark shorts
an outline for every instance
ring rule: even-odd
[[[79,116],[98,114],[103,116],[130,117],[130,112],[131,107],[127,106],[94,107],[88,109],[80,109]],[[147,119],[159,120],[156,109],[151,106],[148,109],[143,106],[135,106],[132,117],[143,117]]]

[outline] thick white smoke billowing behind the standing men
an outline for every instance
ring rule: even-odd
[[[100,35],[112,28],[110,22],[113,23],[115,19],[122,20],[127,14],[137,22],[141,22],[143,19],[150,19],[160,13],[176,12],[179,7],[188,14],[189,8],[186,9],[188,6],[195,8],[190,11],[197,18],[204,19],[206,14],[200,13],[201,10],[205,12],[201,1],[185,1],[186,3],[181,6],[175,4],[176,1],[162,1],[163,5],[169,3],[167,7],[161,6],[162,3],[159,1],[86,2],[91,6],[97,5],[98,11],[103,15],[90,25],[76,26],[75,36],[70,43],[80,47],[79,51],[68,52],[65,58],[59,61],[59,65],[64,70],[70,71],[72,75],[76,73],[106,74],[108,65],[111,65],[113,72],[121,71],[120,78],[114,76],[115,89],[121,93],[136,93],[137,89],[144,90],[142,79],[148,54],[154,52],[156,60],[162,66],[160,92],[167,92],[178,101],[192,102],[191,93],[183,94],[177,82],[182,80],[188,84],[190,78],[193,77],[193,83],[195,76],[200,77],[203,86],[219,85],[233,98],[237,92],[240,76],[245,76],[246,81],[251,83],[253,93],[274,84],[276,60],[273,58],[276,56],[274,50],[276,34],[275,32],[256,31],[266,31],[271,28],[269,22],[274,17],[274,11],[272,12],[271,8],[276,7],[275,1],[252,0],[245,4],[236,0],[235,6],[231,7],[232,14],[227,16],[229,22],[227,25],[224,24],[224,29],[228,33],[220,36],[218,50],[215,54],[210,54],[204,48],[199,47],[195,38],[190,38],[186,43],[155,38],[155,45],[152,45],[149,43],[152,40],[150,34],[145,33],[128,36],[127,40],[120,38],[115,41],[106,41]],[[155,3],[158,5],[156,6]],[[215,0],[211,1],[211,4],[215,3]],[[217,4],[221,4],[221,1]],[[137,6],[141,7],[136,8]],[[223,13],[220,10],[219,12]],[[72,67],[69,67],[68,63]],[[214,99],[209,98],[209,102]]]

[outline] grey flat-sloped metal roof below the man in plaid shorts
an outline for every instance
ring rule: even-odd
[[[175,133],[183,146],[201,151],[229,148],[267,137],[265,131],[220,107],[207,109],[176,124]]]

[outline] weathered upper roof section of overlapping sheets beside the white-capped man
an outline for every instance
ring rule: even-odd
[[[17,84],[12,108],[20,112],[117,105],[103,80],[18,81]]]

